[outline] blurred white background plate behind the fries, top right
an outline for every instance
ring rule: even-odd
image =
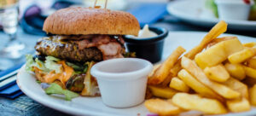
[[[167,5],[167,11],[188,23],[197,26],[212,27],[218,23],[209,9],[206,9],[206,0],[178,0]],[[256,21],[226,20],[231,30],[256,31]]]

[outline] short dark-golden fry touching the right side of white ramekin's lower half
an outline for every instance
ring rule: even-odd
[[[172,98],[177,93],[177,90],[173,90],[172,88],[166,87],[161,88],[153,85],[148,85],[148,89],[152,92],[153,96],[158,96],[161,98]]]

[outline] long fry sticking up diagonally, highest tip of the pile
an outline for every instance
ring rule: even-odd
[[[208,32],[207,35],[202,39],[201,43],[195,46],[195,48],[189,50],[189,52],[184,56],[188,57],[189,59],[194,59],[195,55],[205,49],[207,44],[209,44],[214,38],[217,38],[220,34],[226,32],[227,26],[228,24],[224,20],[220,20],[218,24],[213,26],[210,32]],[[181,60],[179,59],[179,61],[177,61],[170,71],[173,77],[177,76],[177,73],[182,69],[180,62]]]

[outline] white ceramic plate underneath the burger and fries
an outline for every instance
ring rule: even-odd
[[[164,55],[165,59],[172,51],[181,45],[185,49],[191,49],[196,44],[199,44],[201,39],[206,35],[206,32],[169,32],[169,36],[166,38]],[[227,36],[224,34],[223,36]],[[233,35],[234,36],[234,35]],[[255,42],[256,38],[249,38],[244,36],[237,36],[242,43]],[[61,112],[70,113],[73,115],[137,115],[142,116],[148,114],[148,110],[143,104],[137,107],[130,108],[112,108],[106,107],[102,103],[101,97],[77,97],[71,102],[67,102],[57,96],[48,96],[41,89],[40,85],[36,82],[34,75],[26,73],[25,67],[20,69],[20,73],[17,76],[17,84],[20,86],[26,96],[31,97],[33,100],[44,104],[44,106],[54,108]],[[191,113],[191,112],[190,112]],[[192,112],[196,113],[196,112]],[[256,109],[252,109],[246,113],[236,113],[237,115],[252,115],[256,114]],[[234,115],[229,113],[228,115]]]

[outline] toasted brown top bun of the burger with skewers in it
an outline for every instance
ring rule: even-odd
[[[130,13],[109,9],[67,8],[57,10],[44,21],[45,32],[59,35],[135,35],[140,26]]]

